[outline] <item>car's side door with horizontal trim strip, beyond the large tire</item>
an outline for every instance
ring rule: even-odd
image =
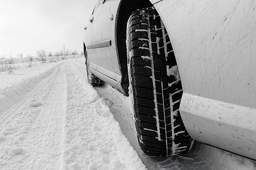
[[[115,40],[110,29],[110,0],[99,0],[90,18],[90,38],[92,44],[86,46],[90,57],[90,67],[115,80],[121,80]]]

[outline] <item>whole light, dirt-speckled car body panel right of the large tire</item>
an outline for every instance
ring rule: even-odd
[[[189,134],[256,159],[256,1],[166,0],[155,7],[174,48]]]

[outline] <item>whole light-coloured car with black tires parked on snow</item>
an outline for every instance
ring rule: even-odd
[[[199,141],[256,159],[256,1],[97,0],[88,80],[129,96],[139,146],[172,156]]]

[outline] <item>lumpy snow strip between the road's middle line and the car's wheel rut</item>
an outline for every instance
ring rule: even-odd
[[[145,169],[104,100],[88,83],[81,61],[66,67],[67,112],[60,169]]]

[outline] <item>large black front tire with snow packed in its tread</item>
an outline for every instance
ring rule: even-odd
[[[171,156],[193,145],[179,106],[183,94],[167,31],[154,7],[134,11],[127,22],[129,94],[139,145],[147,155]]]

